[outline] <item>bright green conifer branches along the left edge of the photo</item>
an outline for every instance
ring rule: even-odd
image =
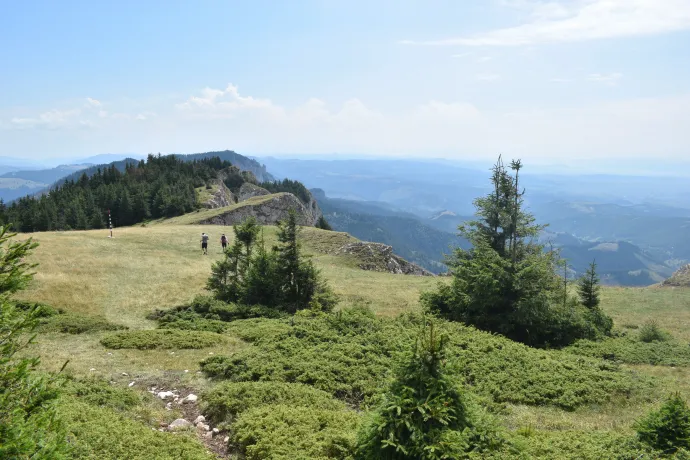
[[[31,280],[33,266],[25,261],[36,247],[31,240],[11,241],[14,236],[0,227],[0,458],[66,458],[55,411],[59,389],[54,379],[37,372],[38,358],[21,355],[45,310],[10,301]]]

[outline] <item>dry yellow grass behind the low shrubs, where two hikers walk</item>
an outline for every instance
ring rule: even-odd
[[[211,236],[208,256],[199,247],[202,231]],[[231,227],[172,224],[116,229],[112,239],[106,231],[38,233],[33,260],[39,268],[22,296],[132,328],[151,327],[148,312],[183,304],[204,291],[212,263],[222,257],[222,233],[232,240]],[[275,235],[274,227],[265,227],[268,246]],[[364,303],[388,315],[416,308],[419,291],[433,286],[434,279],[365,272],[333,255],[352,240],[344,233],[303,231],[305,253],[343,305]]]

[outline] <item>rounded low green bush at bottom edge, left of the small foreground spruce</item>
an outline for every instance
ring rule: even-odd
[[[231,440],[248,460],[353,459],[359,421],[354,411],[259,406],[240,414]]]

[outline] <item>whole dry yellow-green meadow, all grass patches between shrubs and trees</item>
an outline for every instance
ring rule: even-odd
[[[221,234],[232,239],[231,227],[191,224],[194,217],[118,228],[112,239],[107,237],[107,231],[34,234],[32,237],[40,246],[32,257],[39,265],[32,286],[22,293],[22,298],[70,314],[105,318],[130,330],[153,329],[155,322],[146,319],[153,310],[186,304],[204,292],[211,265],[222,256]],[[202,231],[211,237],[208,256],[200,250]],[[264,232],[266,245],[271,246],[276,241],[276,229],[265,227]],[[340,296],[338,308],[366,306],[378,317],[394,318],[404,312],[419,311],[420,292],[439,282],[431,277],[359,269],[355,259],[335,255],[342,245],[354,241],[347,234],[305,228],[302,236],[305,253],[313,258]],[[654,319],[675,340],[685,345],[690,341],[690,289],[607,287],[602,297],[602,306],[613,317],[617,330],[634,335],[647,320]],[[30,351],[40,355],[42,366],[48,370],[58,370],[69,360],[67,372],[80,378],[98,376],[118,385],[132,380],[173,379],[179,385],[201,390],[209,387],[209,381],[199,372],[202,360],[221,354],[241,354],[255,347],[252,340],[243,340],[241,333],[228,332],[226,342],[203,349],[113,350],[101,344],[108,334],[39,331]],[[565,354],[540,353],[542,359],[553,360]],[[622,364],[621,368],[630,379],[653,382],[653,390],[629,398],[582,404],[572,410],[508,402],[500,411],[500,423],[511,432],[533,429],[546,436],[569,436],[569,432],[627,436],[633,432],[635,420],[657,407],[670,392],[679,391],[690,399],[688,367]],[[144,388],[136,384],[134,389]],[[155,421],[146,423],[156,423],[166,415],[157,414]],[[557,453],[548,453],[548,449],[544,452],[538,457],[561,458]]]

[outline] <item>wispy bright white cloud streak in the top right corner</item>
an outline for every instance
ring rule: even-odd
[[[690,29],[688,0],[561,0],[519,2],[524,24],[475,36],[403,44],[521,46],[656,35]]]

